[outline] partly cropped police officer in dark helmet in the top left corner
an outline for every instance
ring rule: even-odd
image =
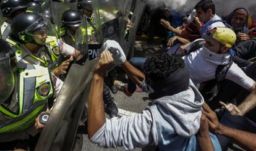
[[[2,39],[6,39],[10,34],[12,18],[22,12],[26,12],[27,7],[28,4],[26,0],[4,0],[1,2],[2,15],[7,18],[1,25]]]

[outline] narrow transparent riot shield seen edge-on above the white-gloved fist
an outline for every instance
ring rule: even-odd
[[[129,54],[129,50],[134,44],[136,38],[137,27],[142,17],[143,11],[145,10],[146,1],[145,0],[136,0],[134,1],[133,9],[129,13],[129,22],[126,26],[125,40],[122,49],[126,56]]]

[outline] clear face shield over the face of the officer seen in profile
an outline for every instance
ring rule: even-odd
[[[45,45],[49,36],[57,37],[58,34],[50,20],[40,18],[25,29],[25,34],[30,35],[36,44]]]

